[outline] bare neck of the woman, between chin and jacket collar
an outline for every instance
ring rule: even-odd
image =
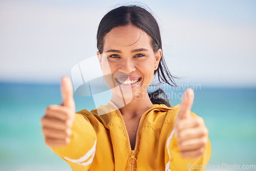
[[[123,99],[112,93],[111,101],[116,104],[123,117],[128,119],[140,118],[142,114],[151,108],[153,103],[144,91],[141,98],[133,98],[130,103],[123,106]]]

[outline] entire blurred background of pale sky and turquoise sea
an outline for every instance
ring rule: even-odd
[[[44,144],[40,118],[61,103],[61,77],[96,55],[103,15],[122,4],[147,6],[158,20],[164,58],[181,77],[163,86],[170,104],[194,89],[191,111],[211,142],[206,170],[255,166],[256,1],[1,0],[0,170],[71,170]],[[76,111],[95,109],[92,97],[74,98]]]

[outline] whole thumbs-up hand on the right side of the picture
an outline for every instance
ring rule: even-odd
[[[185,90],[181,100],[181,109],[175,121],[175,135],[183,158],[199,158],[204,154],[208,142],[208,130],[200,117],[191,117],[190,109],[194,101],[194,91]]]

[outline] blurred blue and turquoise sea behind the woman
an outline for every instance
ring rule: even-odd
[[[165,92],[172,97],[171,105],[180,103],[183,90]],[[92,97],[74,98],[76,111],[95,109]],[[0,83],[0,170],[71,170],[44,144],[41,134],[46,107],[60,103],[57,84]],[[256,164],[256,89],[200,88],[191,111],[209,130],[209,165]]]

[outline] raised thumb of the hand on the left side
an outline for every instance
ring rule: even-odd
[[[73,85],[69,77],[62,77],[60,91],[62,96],[62,105],[75,110],[75,102],[73,98]]]

